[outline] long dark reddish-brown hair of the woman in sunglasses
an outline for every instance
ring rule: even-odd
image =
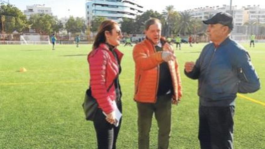
[[[106,42],[106,37],[105,37],[105,31],[109,31],[111,33],[111,30],[114,29],[115,25],[118,25],[114,20],[105,20],[101,23],[101,25],[98,28],[98,33],[95,37],[95,41],[93,44],[93,50],[98,48],[98,46],[101,43]]]

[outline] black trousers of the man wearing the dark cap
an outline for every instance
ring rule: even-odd
[[[201,149],[233,149],[234,106],[199,107]]]

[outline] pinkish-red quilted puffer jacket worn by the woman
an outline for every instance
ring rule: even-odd
[[[114,51],[120,62],[123,54],[118,49]],[[92,96],[98,102],[99,108],[105,113],[111,113],[117,108],[112,101],[116,99],[113,81],[119,75],[119,64],[106,44],[100,44],[98,48],[92,50],[87,60]]]

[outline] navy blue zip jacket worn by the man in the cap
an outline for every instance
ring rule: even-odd
[[[213,43],[201,51],[192,72],[198,79],[198,95],[203,106],[235,105],[236,94],[260,89],[260,80],[247,51],[229,37],[218,47]]]

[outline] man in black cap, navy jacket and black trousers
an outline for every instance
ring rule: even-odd
[[[198,138],[202,149],[232,149],[236,94],[256,92],[260,80],[248,52],[229,37],[232,16],[220,12],[203,23],[212,43],[185,64],[186,76],[199,83]]]

